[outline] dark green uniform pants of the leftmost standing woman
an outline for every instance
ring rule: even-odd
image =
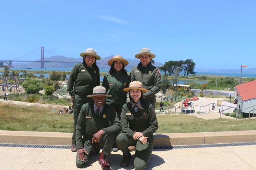
[[[74,129],[73,129],[73,135],[72,135],[72,143],[74,143],[74,144],[76,144],[77,118],[79,116],[82,105],[85,104],[85,103],[89,103],[92,100],[93,100],[93,98],[91,98],[91,97],[80,96],[80,95],[76,95],[75,98],[74,98],[74,101],[73,101]]]

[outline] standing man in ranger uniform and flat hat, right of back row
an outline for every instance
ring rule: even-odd
[[[155,108],[156,104],[156,93],[161,90],[161,73],[151,64],[151,59],[155,58],[156,55],[150,53],[150,49],[143,48],[140,50],[139,54],[135,55],[135,58],[140,59],[138,66],[132,68],[130,74],[130,80],[139,81],[143,84],[143,88],[147,89],[148,92],[143,93],[145,101],[148,101]]]

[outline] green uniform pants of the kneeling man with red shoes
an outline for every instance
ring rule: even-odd
[[[116,133],[111,133],[111,134],[108,134],[108,135],[103,135],[100,139],[100,143],[101,145],[104,145],[103,146],[103,150],[102,152],[108,156],[108,154],[110,154],[111,150],[112,150],[112,147],[115,143],[115,139],[116,139]],[[85,136],[83,138],[83,148],[87,151],[88,155],[85,155],[85,161],[82,162],[81,160],[78,161],[78,154],[76,154],[76,166],[79,168],[79,167],[82,167],[84,166],[93,156],[93,148],[94,146],[97,144],[97,143],[92,143],[91,142],[92,140],[92,137],[91,136]]]

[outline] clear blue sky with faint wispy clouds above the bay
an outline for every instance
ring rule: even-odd
[[[255,0],[3,0],[0,60],[35,49],[79,58],[134,58],[146,47],[156,62],[192,59],[196,69],[256,68]],[[51,57],[50,54],[45,57]],[[41,52],[39,50],[39,59]]]

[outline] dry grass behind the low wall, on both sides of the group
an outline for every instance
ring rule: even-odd
[[[0,130],[69,132],[73,130],[73,115],[58,113],[54,107],[18,106],[0,103]],[[203,120],[188,115],[158,115],[156,133],[223,132],[255,130],[256,119]]]

